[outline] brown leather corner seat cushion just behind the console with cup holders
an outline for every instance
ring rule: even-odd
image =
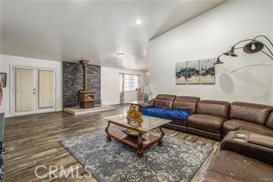
[[[273,129],[256,124],[253,122],[247,122],[240,119],[229,119],[223,124],[223,133],[228,134],[230,131],[235,131],[237,129],[245,129],[251,132],[257,132],[259,134],[273,135]]]

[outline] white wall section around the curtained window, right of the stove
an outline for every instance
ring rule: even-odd
[[[101,68],[101,95],[102,105],[117,105],[119,104],[120,95],[120,74],[139,74],[141,75],[141,85],[148,85],[148,77],[146,72],[135,70],[124,70],[118,68]],[[137,101],[137,92],[124,92],[124,102]]]

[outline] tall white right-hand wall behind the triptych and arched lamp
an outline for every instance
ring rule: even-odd
[[[215,85],[175,83],[176,62],[216,58],[237,41],[258,35],[273,41],[272,10],[272,1],[228,1],[151,40],[149,84],[154,86],[153,96],[170,93],[273,105],[273,60],[263,53],[236,50],[237,58],[222,56],[225,64],[216,66]]]

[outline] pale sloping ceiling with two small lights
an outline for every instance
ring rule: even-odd
[[[1,54],[147,70],[151,38],[224,1],[1,1]]]

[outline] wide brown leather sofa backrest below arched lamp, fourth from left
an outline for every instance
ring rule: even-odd
[[[249,102],[232,102],[230,104],[230,119],[242,119],[264,125],[273,107]]]

